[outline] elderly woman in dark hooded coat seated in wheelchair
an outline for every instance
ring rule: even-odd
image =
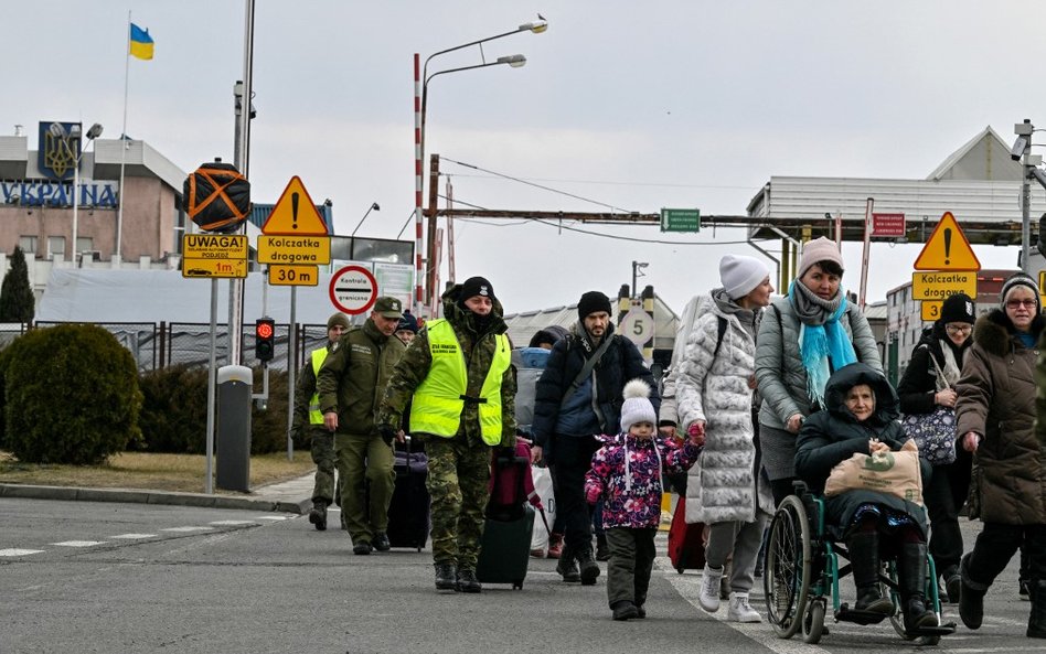
[[[796,444],[796,474],[814,493],[824,492],[832,469],[855,453],[897,451],[905,433],[897,421],[897,394],[882,373],[863,363],[829,378],[825,409],[803,422]],[[922,464],[922,475],[930,467]],[[905,631],[937,625],[926,610],[926,517],[922,507],[896,495],[846,491],[824,500],[825,527],[845,540],[857,587],[855,612],[883,617],[893,603],[879,592],[879,555],[897,559]]]

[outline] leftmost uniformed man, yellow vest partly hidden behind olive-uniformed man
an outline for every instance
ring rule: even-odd
[[[323,425],[320,396],[316,393],[316,376],[342,333],[349,329],[349,318],[341,312],[327,321],[327,346],[309,353],[309,361],[301,368],[295,389],[295,421],[291,431],[299,439],[308,425],[312,441],[312,462],[316,463],[316,481],[312,485],[312,511],[309,522],[320,532],[327,528],[327,507],[334,498],[334,435]]]

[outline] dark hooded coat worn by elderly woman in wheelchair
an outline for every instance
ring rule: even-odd
[[[858,384],[867,384],[875,394],[875,411],[861,422],[848,408],[846,395]],[[824,492],[832,468],[850,459],[855,453],[868,453],[868,439],[877,438],[898,451],[908,438],[897,421],[897,393],[883,373],[867,364],[853,363],[844,366],[829,377],[824,388],[822,411],[810,416],[799,431],[796,444],[796,474],[807,482],[814,493]],[[919,460],[922,485],[929,481],[930,464]],[[921,506],[896,495],[875,491],[847,491],[824,498],[824,522],[826,528],[836,538],[845,537],[845,530],[854,513],[862,504],[878,504],[910,515],[926,535],[926,512]]]

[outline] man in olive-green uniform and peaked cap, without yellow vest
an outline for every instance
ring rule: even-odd
[[[352,553],[389,548],[388,503],[396,475],[392,439],[375,427],[375,416],[393,367],[405,346],[393,336],[403,317],[396,298],[378,298],[363,326],[352,328],[331,349],[317,376],[323,425],[334,432],[342,528]],[[370,481],[365,505],[364,480]]]

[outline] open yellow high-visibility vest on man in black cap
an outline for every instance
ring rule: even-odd
[[[451,438],[458,432],[461,411],[467,401],[469,372],[461,344],[453,328],[445,319],[429,320],[428,349],[433,365],[428,376],[414,392],[410,407],[410,431]],[[501,442],[501,379],[512,363],[509,337],[497,334],[498,345],[478,398],[468,398],[479,408],[480,435],[483,442]]]

